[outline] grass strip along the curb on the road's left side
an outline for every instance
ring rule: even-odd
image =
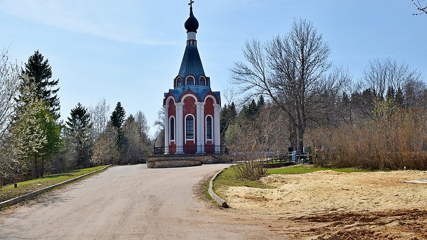
[[[105,166],[106,165],[66,171],[58,174],[45,176],[43,178],[19,182],[17,188],[15,188],[13,184],[3,186],[2,188],[0,188],[0,202],[19,197],[24,194],[40,190],[51,185],[62,183],[64,181],[84,175],[86,173],[99,170]]]

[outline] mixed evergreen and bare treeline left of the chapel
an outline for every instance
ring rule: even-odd
[[[104,164],[136,164],[150,154],[147,119],[126,117],[103,99],[89,109],[78,103],[64,123],[48,59],[38,51],[24,66],[0,60],[0,186],[48,173]]]

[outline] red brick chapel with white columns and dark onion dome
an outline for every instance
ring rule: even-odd
[[[191,1],[186,50],[173,89],[165,92],[165,154],[211,154],[220,148],[220,92],[212,92],[197,49],[199,21]]]

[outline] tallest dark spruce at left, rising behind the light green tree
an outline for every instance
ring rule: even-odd
[[[52,78],[52,68],[49,65],[49,60],[44,60],[43,55],[37,50],[34,52],[34,55],[28,58],[28,62],[25,63],[22,75],[28,77],[22,77],[21,92],[24,87],[34,86],[36,97],[45,100],[56,119],[58,119],[60,116],[60,106],[59,97],[56,93],[59,91],[59,87],[56,88],[56,86],[59,79],[50,80]],[[28,99],[22,98],[21,95],[19,95],[19,100],[29,102]]]

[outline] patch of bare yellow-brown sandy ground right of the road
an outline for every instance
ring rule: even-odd
[[[272,189],[221,189],[230,207],[260,217],[284,239],[427,239],[424,171],[270,175]]]

